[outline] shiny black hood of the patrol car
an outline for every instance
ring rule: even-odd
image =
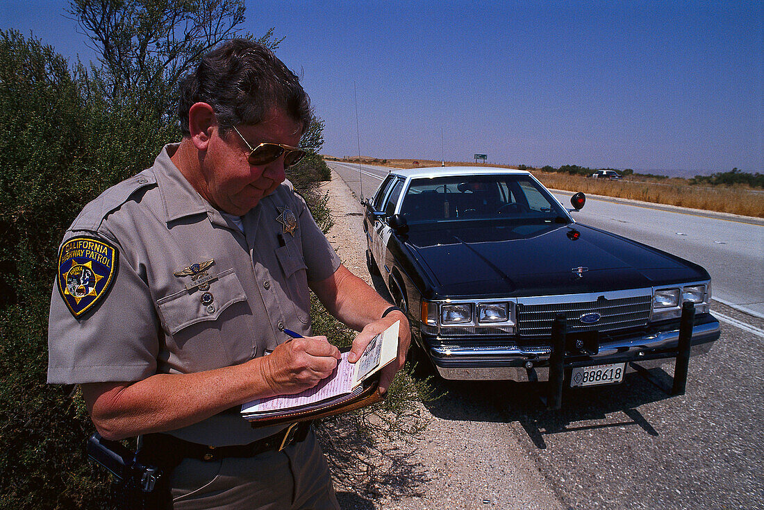
[[[604,292],[708,278],[686,260],[581,224],[412,225],[406,245],[429,273],[432,292],[444,297]]]

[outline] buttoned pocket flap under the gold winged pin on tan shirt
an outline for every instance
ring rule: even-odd
[[[212,296],[211,302],[207,295]],[[217,279],[209,282],[209,289],[183,289],[163,297],[157,301],[157,306],[163,327],[169,334],[174,335],[191,324],[215,321],[225,308],[246,299],[247,295],[244,294],[241,282],[231,268],[219,273]]]

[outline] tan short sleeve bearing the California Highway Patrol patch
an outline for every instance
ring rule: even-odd
[[[132,382],[156,373],[151,292],[103,234],[67,232],[48,321],[49,383]]]

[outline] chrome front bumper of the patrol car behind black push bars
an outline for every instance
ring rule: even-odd
[[[705,354],[720,335],[719,322],[695,324],[692,329],[691,356]],[[618,341],[603,342],[599,353],[589,357],[569,357],[565,367],[607,363],[639,362],[652,368],[676,357],[679,330],[659,331]],[[443,342],[427,349],[443,379],[457,380],[549,380],[550,347],[523,349],[516,346],[458,347]],[[626,372],[633,369],[627,364]]]

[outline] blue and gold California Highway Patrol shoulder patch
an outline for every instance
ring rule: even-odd
[[[67,240],[58,253],[58,291],[79,317],[101,301],[117,274],[119,252],[93,237]]]

